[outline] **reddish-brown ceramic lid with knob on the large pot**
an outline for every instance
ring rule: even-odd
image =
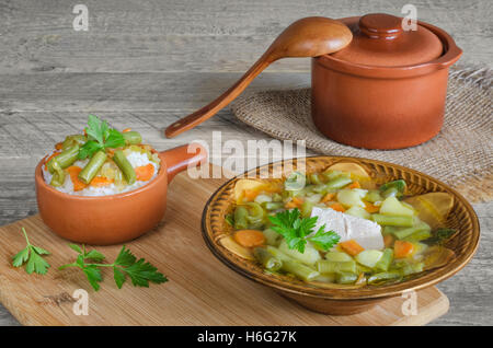
[[[414,66],[442,56],[443,44],[428,28],[404,31],[402,19],[385,13],[352,18],[344,23],[353,40],[331,56],[353,63],[377,67]]]

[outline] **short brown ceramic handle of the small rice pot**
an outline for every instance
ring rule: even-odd
[[[167,164],[168,183],[190,165],[200,165],[207,162],[207,150],[198,143],[188,143],[162,151],[160,155]]]

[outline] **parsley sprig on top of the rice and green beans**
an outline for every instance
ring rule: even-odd
[[[80,148],[79,160],[91,158],[99,150],[125,146],[124,136],[118,130],[110,128],[105,120],[101,120],[94,115],[89,115],[85,134],[88,135],[88,141]]]

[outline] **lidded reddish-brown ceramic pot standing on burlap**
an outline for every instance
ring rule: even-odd
[[[448,68],[461,49],[443,30],[367,14],[341,20],[353,32],[344,49],[312,59],[311,114],[337,142],[400,149],[438,134],[444,121]]]

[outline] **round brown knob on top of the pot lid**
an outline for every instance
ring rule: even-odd
[[[359,19],[359,30],[370,38],[394,39],[402,34],[402,20],[386,13],[370,13]]]

